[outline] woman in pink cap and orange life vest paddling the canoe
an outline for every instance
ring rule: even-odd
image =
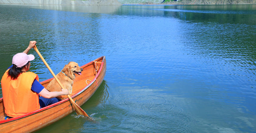
[[[2,77],[4,111],[7,116],[17,117],[38,110],[60,101],[55,97],[69,94],[66,89],[62,89],[61,92],[49,92],[38,82],[37,74],[27,72],[30,61],[35,59],[35,56],[27,55],[27,53],[35,44],[36,41],[30,41],[28,48],[23,53],[15,54],[13,65]]]

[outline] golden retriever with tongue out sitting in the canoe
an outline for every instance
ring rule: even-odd
[[[59,72],[56,77],[60,80],[61,84],[63,85],[64,89],[67,89],[68,92],[71,94],[72,93],[72,85],[75,80],[75,74],[81,75],[83,69],[78,66],[76,62],[69,62],[65,67]],[[58,84],[58,82],[53,79],[51,82],[47,85],[46,89],[48,91],[61,91],[61,87]],[[65,99],[63,97],[58,97],[60,99]]]

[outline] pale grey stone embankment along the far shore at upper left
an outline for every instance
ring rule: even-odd
[[[0,0],[0,4],[121,5],[118,0]]]

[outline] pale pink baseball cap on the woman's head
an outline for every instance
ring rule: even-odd
[[[13,64],[17,67],[23,67],[33,59],[35,59],[35,56],[32,54],[27,55],[26,53],[17,53],[13,56]]]

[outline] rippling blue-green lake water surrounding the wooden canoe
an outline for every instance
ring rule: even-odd
[[[38,132],[256,132],[256,5],[0,5],[0,36],[2,75],[30,40],[54,73],[106,56],[94,121]]]

